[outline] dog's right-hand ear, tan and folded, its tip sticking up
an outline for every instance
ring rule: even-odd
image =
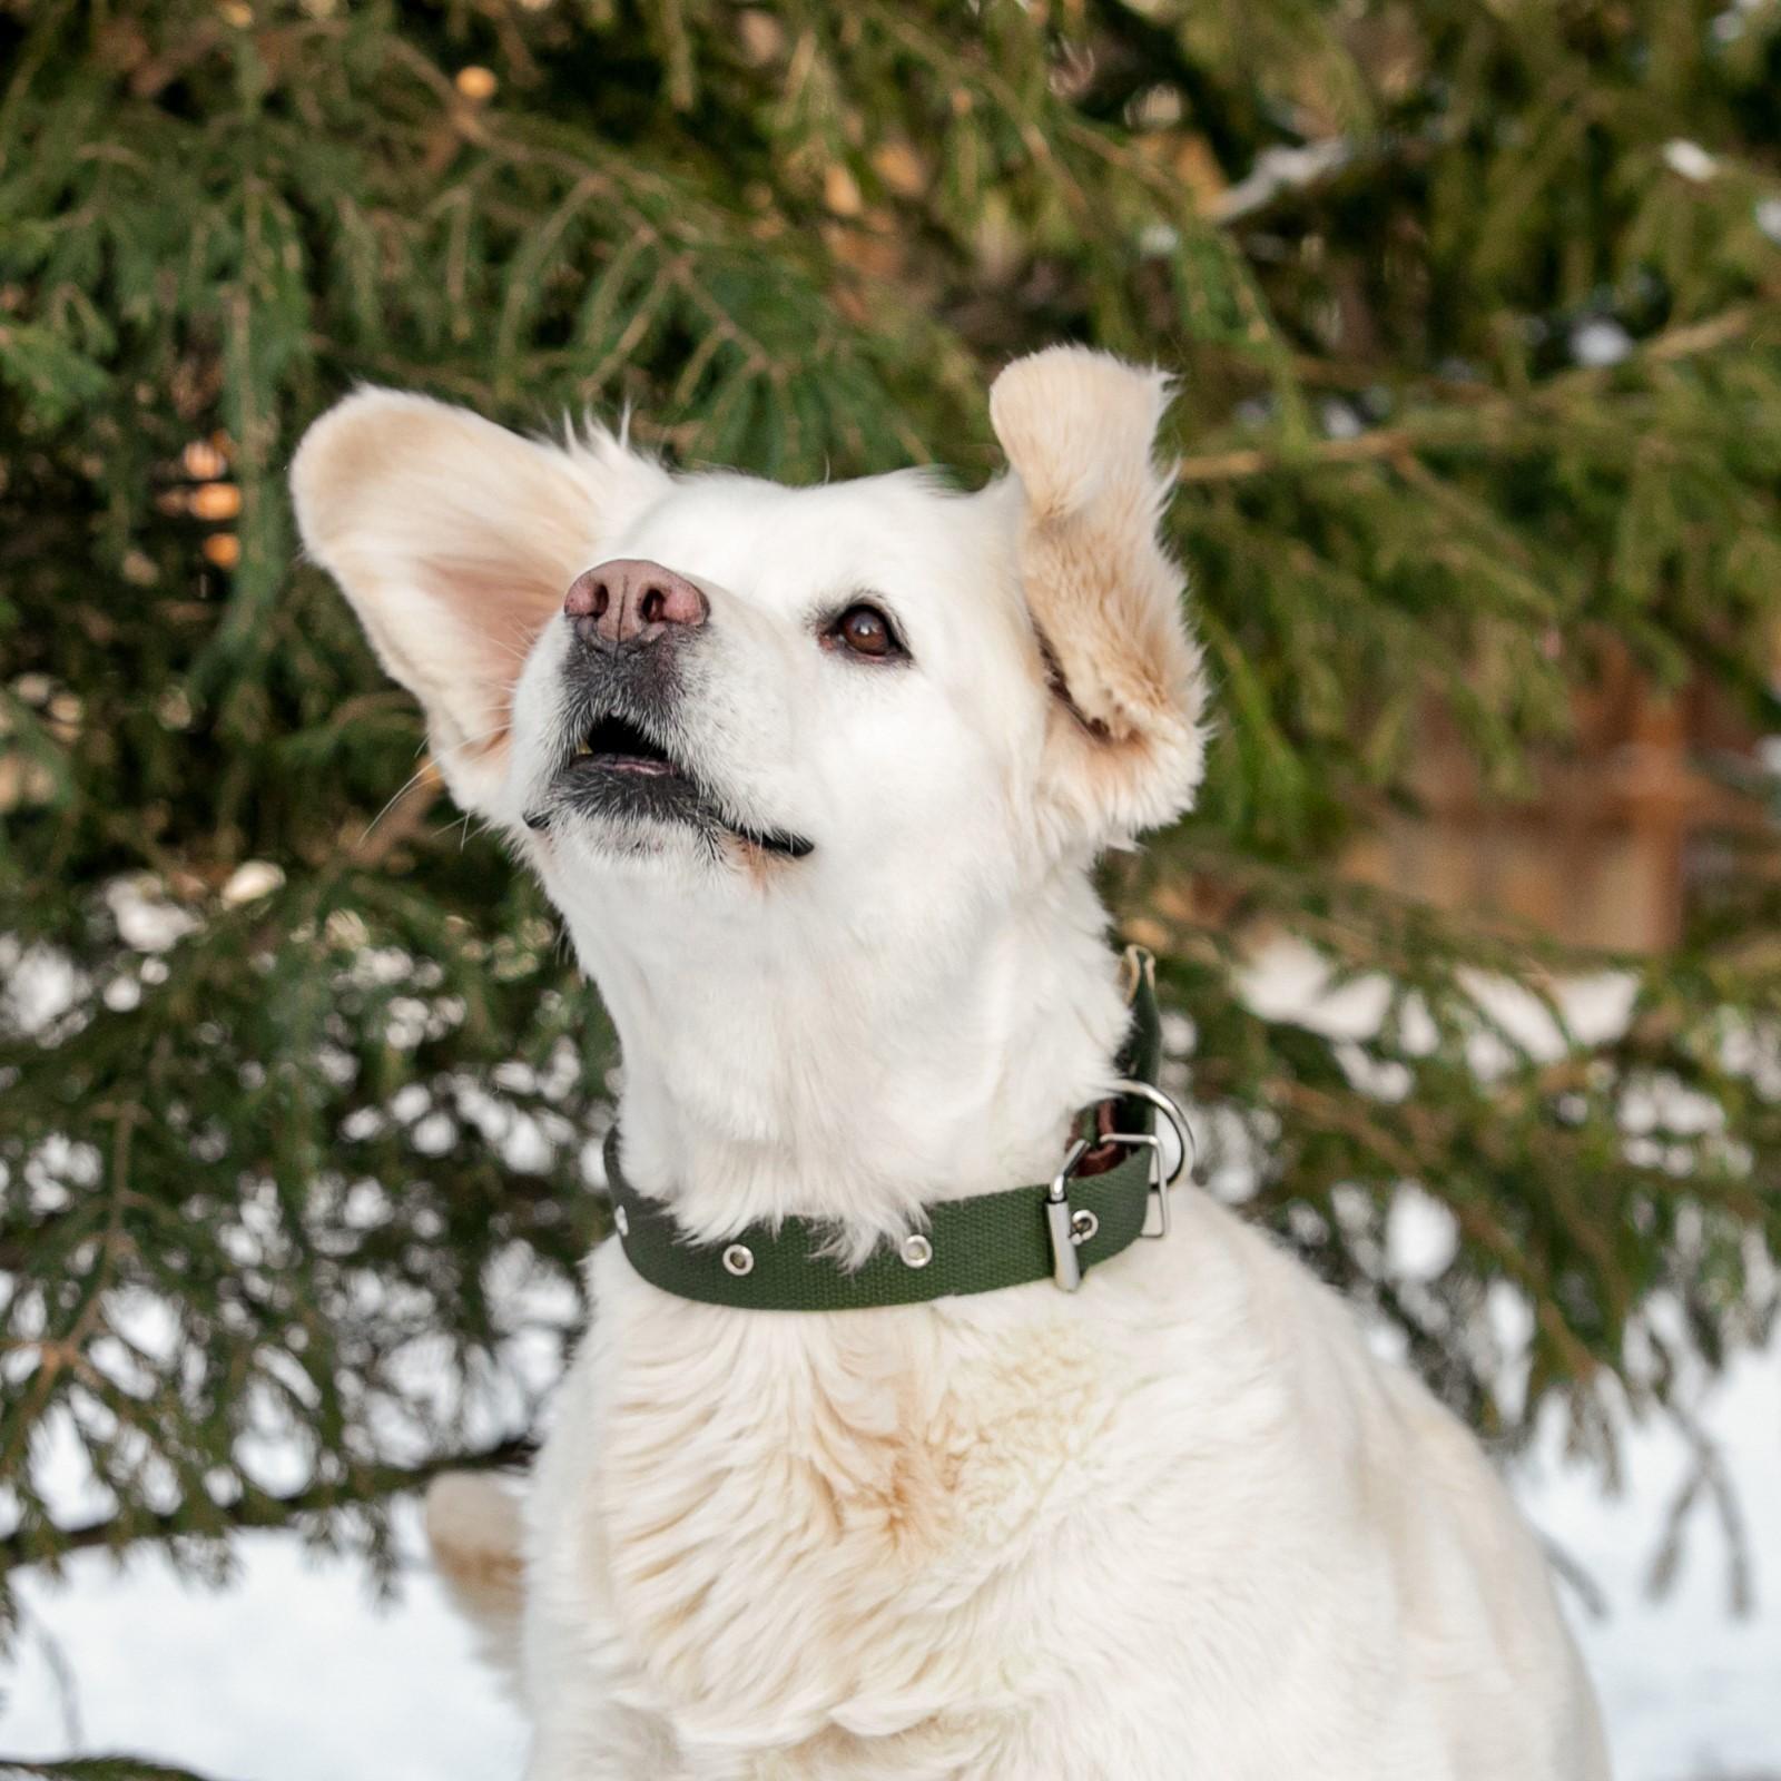
[[[1118,842],[1179,816],[1204,764],[1199,650],[1158,538],[1151,458],[1168,379],[1085,347],[1015,360],[990,422],[1021,486],[1019,566],[1053,670],[1045,794],[1065,832]]]

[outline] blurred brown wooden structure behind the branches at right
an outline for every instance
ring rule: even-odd
[[[1578,696],[1576,739],[1539,764],[1537,794],[1509,803],[1485,794],[1452,718],[1430,709],[1416,780],[1423,814],[1384,816],[1343,871],[1578,946],[1665,947],[1690,896],[1726,869],[1715,837],[1760,821],[1697,762],[1754,744],[1706,682],[1658,695],[1622,659]]]

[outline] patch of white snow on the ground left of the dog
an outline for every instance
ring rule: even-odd
[[[0,1671],[0,1756],[128,1753],[217,1781],[497,1781],[525,1733],[415,1555],[397,1598],[283,1533],[240,1541],[223,1590],[159,1555],[84,1553],[25,1580],[30,1626]],[[59,1674],[61,1672],[61,1674]]]

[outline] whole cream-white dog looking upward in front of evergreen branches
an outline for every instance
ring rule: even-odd
[[[675,476],[379,390],[303,443],[308,549],[623,1045],[634,1216],[524,1509],[431,1505],[515,1622],[534,1781],[1606,1774],[1471,1437],[1204,1195],[1079,1291],[1065,1177],[1061,1247],[1038,1188],[971,1209],[1026,1208],[1056,1281],[762,1307],[919,1295],[953,1202],[1051,1183],[1122,1074],[1088,869],[1202,759],[1163,403],[1022,360],[974,495]],[[787,1231],[826,1240],[750,1300]]]

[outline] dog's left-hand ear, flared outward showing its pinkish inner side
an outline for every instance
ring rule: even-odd
[[[557,447],[424,395],[360,390],[305,435],[290,486],[310,556],[426,707],[447,785],[488,809],[527,650],[668,472],[609,433]]]

